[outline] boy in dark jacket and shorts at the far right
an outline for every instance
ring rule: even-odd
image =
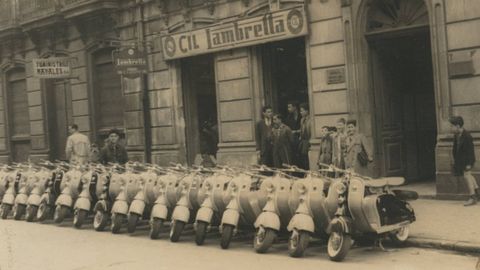
[[[472,135],[463,127],[463,117],[454,116],[450,118],[452,131],[454,134],[453,140],[453,175],[458,180],[463,178],[468,188],[468,201],[465,206],[474,205],[477,203],[480,190],[477,181],[472,175],[472,168],[475,165],[475,148],[473,145]]]

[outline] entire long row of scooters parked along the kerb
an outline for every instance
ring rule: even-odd
[[[329,177],[332,173],[337,177]],[[170,225],[179,241],[186,226],[202,245],[208,232],[220,233],[229,248],[238,232],[254,232],[256,252],[265,253],[279,236],[288,236],[293,257],[303,256],[311,237],[327,241],[331,260],[345,258],[360,239],[404,243],[415,214],[407,200],[415,193],[395,190],[403,178],[371,179],[325,166],[305,171],[286,165],[233,168],[162,167],[129,162],[71,165],[42,161],[0,168],[0,217],[28,222],[73,216],[81,228],[92,220],[97,231],[128,233],[148,221],[150,238]]]

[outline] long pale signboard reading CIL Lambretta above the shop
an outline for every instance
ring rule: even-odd
[[[167,60],[251,46],[308,33],[303,6],[162,37]]]

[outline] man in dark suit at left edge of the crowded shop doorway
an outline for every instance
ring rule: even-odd
[[[272,150],[272,115],[271,106],[262,108],[262,120],[257,122],[255,140],[257,143],[257,159],[260,164],[273,166]]]

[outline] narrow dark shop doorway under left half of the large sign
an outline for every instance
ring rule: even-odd
[[[203,165],[213,165],[218,149],[213,56],[204,55],[184,59],[181,62],[181,69],[187,162],[191,165],[203,160]]]

